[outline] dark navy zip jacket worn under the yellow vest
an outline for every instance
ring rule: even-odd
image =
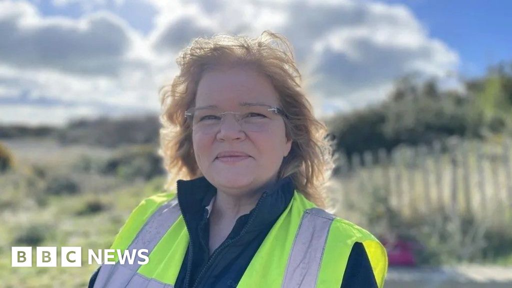
[[[190,242],[175,288],[236,287],[273,224],[290,203],[293,192],[289,178],[276,183],[262,195],[255,209],[237,219],[226,240],[210,256],[206,207],[216,189],[204,177],[179,180],[178,202]],[[98,271],[91,277],[90,288],[97,274]],[[352,247],[342,282],[342,288],[351,287],[377,288],[368,255],[358,242]]]

